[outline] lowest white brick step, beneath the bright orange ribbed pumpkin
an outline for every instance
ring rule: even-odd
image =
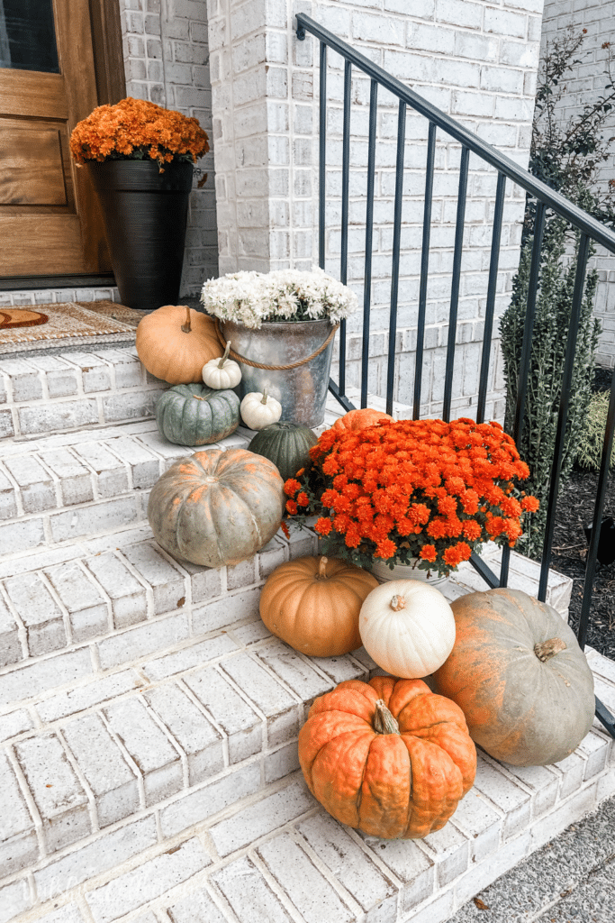
[[[260,784],[255,763],[250,783],[246,763],[226,781],[212,780],[90,835],[87,844],[32,862],[0,883],[0,897],[16,916],[39,911],[29,919],[57,907],[60,897],[67,911],[85,911],[85,919],[88,911],[98,920],[138,909],[148,911],[139,923],[169,917],[227,923],[233,911],[249,919],[257,899],[271,919],[287,919],[283,909],[301,907],[308,888],[327,920],[444,923],[613,794],[612,746],[599,734],[591,737],[597,738],[591,756],[562,769],[535,768],[550,773],[546,787],[533,785],[531,770],[520,777],[479,756],[475,788],[444,830],[422,841],[382,841],[332,821],[290,760],[269,782],[261,764]],[[296,753],[296,741],[278,753],[283,749]],[[241,796],[232,800],[241,785]]]

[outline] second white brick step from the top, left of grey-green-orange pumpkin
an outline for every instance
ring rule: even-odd
[[[250,438],[242,427],[203,448],[245,447]],[[147,521],[150,488],[194,451],[160,436],[153,419],[3,444],[0,561]]]

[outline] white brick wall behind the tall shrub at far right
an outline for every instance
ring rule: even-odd
[[[567,118],[583,111],[586,102],[601,96],[608,81],[604,72],[605,51],[603,42],[615,43],[615,0],[545,0],[542,24],[541,50],[546,42],[562,34],[568,26],[574,34],[586,30],[585,42],[575,55],[580,61],[573,68],[572,77],[566,78],[567,92],[562,97],[561,114]],[[607,90],[609,92],[609,90]],[[615,110],[604,118],[604,137],[615,135]],[[615,148],[598,172],[598,184],[605,186],[615,179]],[[597,364],[607,368],[615,366],[615,255],[602,247],[592,261],[598,270],[595,316],[600,321],[602,333],[597,348]],[[591,263],[590,263],[591,265]]]

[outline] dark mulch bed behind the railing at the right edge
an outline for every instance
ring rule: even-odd
[[[610,371],[597,369],[595,390],[609,390],[610,381]],[[596,494],[597,472],[574,468],[568,483],[562,485],[556,512],[550,566],[574,580],[570,603],[574,631],[578,629],[585,580],[587,541],[583,530],[593,520]],[[609,476],[604,514],[615,517],[615,472]],[[587,644],[615,660],[615,563],[597,563]]]

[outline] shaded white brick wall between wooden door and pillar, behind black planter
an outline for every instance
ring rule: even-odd
[[[197,118],[209,138],[211,150],[197,164],[207,180],[200,188],[194,183],[183,258],[180,296],[194,295],[218,275],[207,3],[119,0],[119,6],[126,95]]]

